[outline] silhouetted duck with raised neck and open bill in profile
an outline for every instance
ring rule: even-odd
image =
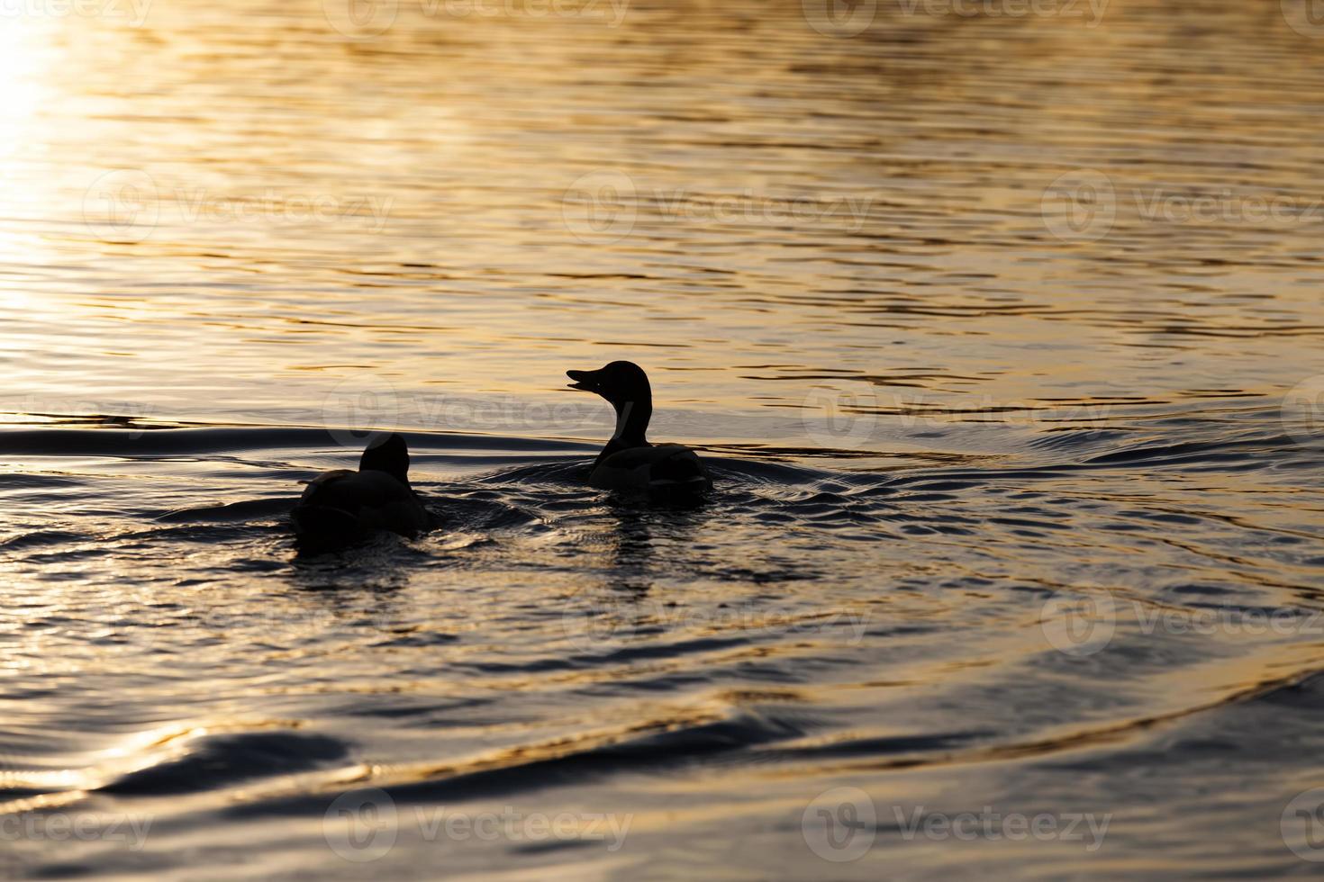
[[[593,460],[591,487],[646,495],[688,496],[712,489],[703,460],[682,444],[651,444],[653,387],[633,361],[613,361],[597,370],[567,370],[571,389],[591,391],[616,409],[616,432]]]

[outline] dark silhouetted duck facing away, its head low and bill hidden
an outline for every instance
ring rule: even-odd
[[[305,546],[342,546],[385,530],[417,538],[433,516],[409,484],[409,446],[397,434],[379,434],[359,459],[359,471],[324,472],[290,512],[294,536]]]

